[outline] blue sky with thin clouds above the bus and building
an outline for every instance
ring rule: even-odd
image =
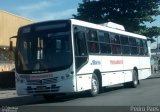
[[[82,0],[0,0],[0,10],[25,17],[32,21],[45,21],[72,18],[77,14],[78,4]],[[160,16],[147,26],[160,27]],[[160,38],[158,39],[160,42]],[[156,47],[156,44],[152,44]]]

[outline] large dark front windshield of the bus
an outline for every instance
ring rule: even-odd
[[[34,30],[26,28],[19,33],[17,72],[56,71],[72,64],[70,30],[60,27],[40,26]]]

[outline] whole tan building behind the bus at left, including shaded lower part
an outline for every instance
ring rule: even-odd
[[[0,10],[0,72],[14,69],[14,54],[9,50],[10,37],[16,36],[18,28],[33,21]],[[16,39],[12,39],[13,46]]]

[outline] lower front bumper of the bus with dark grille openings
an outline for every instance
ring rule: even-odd
[[[24,83],[16,83],[16,90],[21,95],[41,95],[41,94],[57,94],[57,93],[73,93],[76,92],[76,83],[73,79],[66,79],[52,84],[28,85]]]

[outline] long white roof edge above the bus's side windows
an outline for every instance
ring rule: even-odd
[[[115,28],[102,26],[102,25],[99,25],[99,24],[89,23],[89,22],[76,20],[76,19],[70,19],[70,20],[71,20],[72,24],[78,25],[78,26],[84,26],[84,27],[99,29],[99,30],[108,31],[108,32],[112,32],[112,33],[118,33],[118,34],[121,34],[121,35],[126,35],[126,36],[141,38],[141,39],[147,39],[143,35],[127,32],[127,31],[124,31],[124,30],[118,30],[118,29],[115,29]]]

